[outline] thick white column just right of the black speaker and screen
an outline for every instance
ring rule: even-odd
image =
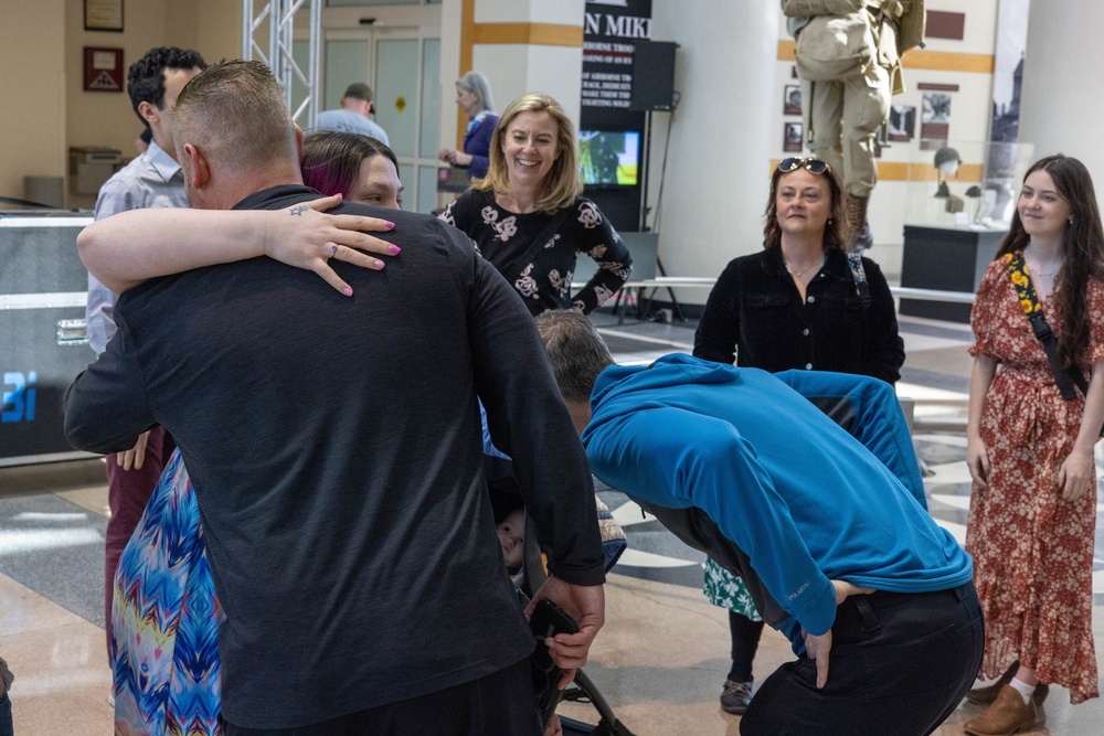
[[[652,3],[654,41],[680,44],[676,111],[659,214],[659,256],[670,276],[719,276],[763,247],[775,104],[778,3]],[[652,115],[649,199],[659,190],[668,115]],[[649,217],[648,222],[654,222]],[[678,292],[704,303],[703,289]],[[666,298],[660,295],[658,298]]]

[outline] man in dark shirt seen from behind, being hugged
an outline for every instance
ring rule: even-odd
[[[197,76],[173,132],[193,207],[318,196],[262,64]],[[580,622],[553,644],[564,668],[602,626],[604,580],[590,472],[540,338],[457,231],[339,211],[385,215],[402,247],[379,273],[335,262],[353,298],[267,258],[125,292],[116,337],[70,390],[70,440],[115,451],[155,423],[177,438],[226,615],[227,736],[539,734],[477,396],[548,547],[537,597]]]

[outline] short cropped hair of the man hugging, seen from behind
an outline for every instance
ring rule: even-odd
[[[222,62],[195,75],[180,90],[172,138],[178,149],[191,143],[209,161],[237,171],[299,158],[284,90],[261,62]]]

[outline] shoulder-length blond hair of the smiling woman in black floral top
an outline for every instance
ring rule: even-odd
[[[556,124],[556,159],[552,162],[552,169],[544,178],[543,189],[537,198],[538,210],[555,214],[574,204],[575,198],[583,193],[583,179],[578,173],[575,126],[560,103],[551,95],[529,93],[507,106],[490,139],[490,166],[487,175],[475,184],[475,189],[496,194],[506,194],[510,191],[510,175],[506,156],[502,153],[502,141],[513,118],[522,113],[548,113]]]

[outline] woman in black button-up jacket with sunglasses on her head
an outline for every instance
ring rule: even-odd
[[[895,383],[904,363],[893,296],[878,265],[848,260],[846,198],[818,159],[789,158],[771,178],[763,250],[729,263],[694,334],[698,358],[772,373],[790,369],[856,373]],[[859,268],[861,264],[861,269]],[[743,714],[763,632],[740,578],[712,559],[705,596],[729,609],[732,668],[721,707]]]

